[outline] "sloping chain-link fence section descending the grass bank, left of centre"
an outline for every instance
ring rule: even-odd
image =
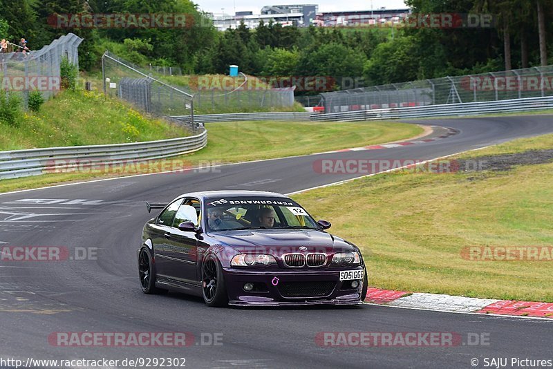
[[[102,55],[102,79],[106,95],[119,97],[145,113],[167,120],[178,115],[191,129],[198,128],[194,124],[194,96],[184,88],[151,77],[147,70],[107,51]]]

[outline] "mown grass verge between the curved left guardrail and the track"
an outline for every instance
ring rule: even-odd
[[[205,149],[160,163],[194,166],[198,162],[243,162],[281,158],[368,144],[403,140],[422,133],[414,124],[395,122],[232,122],[208,123],[208,144]],[[162,165],[158,167],[162,168]],[[89,180],[137,174],[126,171],[111,175],[91,173],[52,173],[42,176],[0,180],[0,192],[30,189],[73,180]]]

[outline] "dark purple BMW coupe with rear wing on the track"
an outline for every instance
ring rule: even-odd
[[[209,306],[355,305],[366,269],[353,243],[328,234],[294,200],[261,191],[185,193],[144,225],[146,294],[178,290]]]

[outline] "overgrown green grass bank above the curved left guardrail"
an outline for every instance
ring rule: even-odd
[[[0,123],[0,151],[115,144],[189,135],[182,126],[149,119],[119,100],[95,92],[64,91],[27,112],[17,126]]]

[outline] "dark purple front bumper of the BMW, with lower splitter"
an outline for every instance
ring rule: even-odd
[[[359,270],[355,267],[348,270]],[[341,269],[344,270],[344,269]],[[361,303],[363,288],[362,280],[359,286],[351,288],[350,281],[339,281],[340,269],[308,269],[308,270],[278,270],[274,272],[251,269],[223,269],[225,285],[229,296],[229,305],[239,306],[299,306],[299,305],[357,305]],[[247,292],[243,289],[245,283],[263,286],[265,290]],[[320,289],[323,283],[328,289]],[[294,290],[290,296],[290,285],[301,285],[301,291]],[[319,286],[319,294],[310,295],[310,285]],[[314,289],[315,290],[315,289]],[[321,292],[322,291],[322,292]]]

